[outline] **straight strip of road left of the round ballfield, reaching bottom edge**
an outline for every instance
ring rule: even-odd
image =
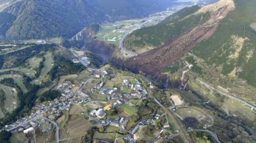
[[[174,116],[172,115],[171,111],[169,111],[169,109],[165,108],[156,98],[154,98],[154,100],[158,105],[160,105],[160,107],[163,108],[165,113],[167,113],[167,115],[171,117],[172,122],[174,123],[175,127],[178,129],[178,131],[180,133],[180,137],[182,138],[183,142],[189,143],[189,139],[187,139],[187,136],[184,134],[182,127],[180,127],[180,125],[178,124],[178,122],[176,121]]]

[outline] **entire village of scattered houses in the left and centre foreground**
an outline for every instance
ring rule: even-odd
[[[86,58],[84,58],[86,59]],[[73,60],[76,62],[76,60]],[[148,96],[147,89],[143,86],[142,82],[136,78],[132,81],[128,79],[122,80],[120,88],[105,88],[104,79],[109,76],[114,77],[113,74],[109,74],[106,70],[91,70],[91,77],[94,80],[100,80],[98,84],[95,84],[90,89],[91,93],[85,93],[82,88],[86,86],[87,82],[82,82],[82,87],[72,92],[72,88],[76,85],[66,80],[62,84],[58,85],[57,90],[61,93],[61,97],[54,99],[53,101],[44,102],[43,104],[36,104],[32,113],[27,118],[17,120],[11,125],[5,125],[5,130],[10,131],[12,134],[23,132],[29,134],[36,129],[40,129],[42,133],[47,133],[53,129],[51,122],[56,122],[64,111],[69,111],[72,105],[86,105],[86,103],[100,106],[100,108],[92,109],[88,113],[82,113],[87,119],[93,120],[98,128],[103,129],[107,126],[114,126],[120,128],[120,130],[127,131],[124,139],[129,143],[135,143],[134,135],[141,126],[145,126],[149,123],[154,124],[160,115],[156,115],[153,119],[139,122],[134,129],[126,130],[125,127],[129,122],[129,119],[125,116],[115,116],[114,118],[109,115],[111,109],[127,105],[134,107],[134,103],[129,102],[131,99],[143,100]],[[147,83],[147,86],[152,89],[154,88],[151,82]],[[125,91],[127,90],[127,91]],[[124,92],[125,91],[125,92]],[[93,100],[91,94],[97,93],[104,95],[103,101]],[[45,120],[45,118],[49,120]],[[169,127],[169,125],[167,126]]]

